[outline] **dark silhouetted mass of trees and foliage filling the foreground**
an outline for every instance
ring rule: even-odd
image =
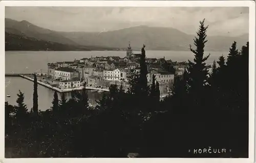
[[[163,101],[155,75],[147,84],[145,46],[129,90],[111,85],[94,109],[86,89],[70,99],[54,93],[53,110],[35,118],[19,91],[16,106],[5,103],[6,157],[248,157],[249,43],[241,51],[233,43],[228,62],[221,56],[209,73],[206,29],[201,21],[194,62],[175,77],[173,95]],[[227,153],[193,154],[209,146]]]

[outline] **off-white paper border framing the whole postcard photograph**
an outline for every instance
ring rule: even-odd
[[[67,7],[249,7],[249,158],[4,158],[5,99],[5,6]],[[1,162],[253,162],[255,127],[255,2],[254,1],[1,1],[0,2],[0,161]]]

